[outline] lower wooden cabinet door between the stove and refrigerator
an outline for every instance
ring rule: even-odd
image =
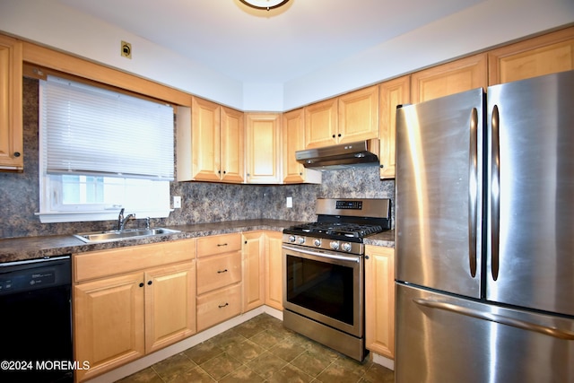
[[[365,248],[365,341],[373,353],[395,358],[395,249]]]

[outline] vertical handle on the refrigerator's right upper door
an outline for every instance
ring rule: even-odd
[[[498,105],[492,109],[491,120],[491,274],[499,278],[500,243],[500,117]]]

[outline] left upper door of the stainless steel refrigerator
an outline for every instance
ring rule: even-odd
[[[396,111],[396,279],[481,294],[483,90]]]

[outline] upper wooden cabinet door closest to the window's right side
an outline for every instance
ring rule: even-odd
[[[219,181],[221,107],[210,101],[192,98],[191,147],[193,179]]]

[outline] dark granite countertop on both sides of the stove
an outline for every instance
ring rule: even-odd
[[[300,222],[283,220],[246,220],[196,223],[168,227],[168,229],[180,231],[178,233],[91,244],[84,243],[73,235],[0,239],[0,263],[43,257],[56,257],[65,254],[103,250],[106,248],[124,248],[127,246],[144,245],[175,239],[205,237],[208,235],[228,234],[231,232],[257,230],[283,231],[284,228],[297,223]],[[394,247],[395,231],[385,231],[372,235],[366,238],[364,243],[375,246]]]

